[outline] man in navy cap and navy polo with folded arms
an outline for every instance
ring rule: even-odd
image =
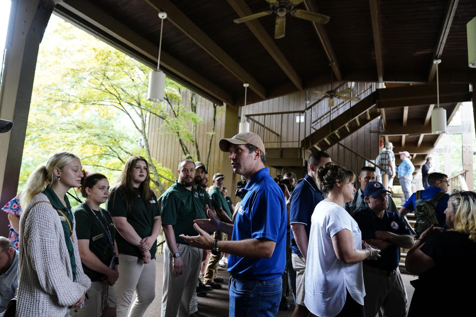
[[[362,239],[382,250],[380,259],[364,260],[365,316],[382,310],[386,317],[407,316],[407,292],[400,275],[400,247],[414,244],[412,231],[397,212],[388,211],[388,193],[382,183],[369,182],[364,189],[368,208],[354,213]]]

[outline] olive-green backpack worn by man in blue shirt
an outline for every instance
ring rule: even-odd
[[[439,192],[429,200],[421,198],[421,190],[415,193],[415,232],[419,237],[420,234],[429,228],[432,224],[439,227],[440,223],[436,217],[436,205],[438,201],[445,196],[446,193]]]

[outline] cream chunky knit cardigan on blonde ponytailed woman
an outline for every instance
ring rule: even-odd
[[[45,194],[36,195],[20,217],[20,264],[18,266],[18,317],[64,317],[91,286],[83,272],[73,225],[76,281],[64,241],[58,212]]]

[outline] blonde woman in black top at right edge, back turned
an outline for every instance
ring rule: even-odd
[[[453,193],[445,215],[450,230],[429,227],[407,253],[407,270],[419,274],[412,281],[415,293],[409,317],[468,316],[473,310],[470,289],[476,285],[476,193]]]

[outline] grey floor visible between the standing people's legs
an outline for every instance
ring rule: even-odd
[[[163,276],[163,263],[164,256],[162,254],[157,255],[156,267],[157,267],[157,278],[156,278],[156,297],[152,304],[149,306],[144,317],[158,317],[160,316],[161,302],[162,302],[162,276]],[[230,274],[226,270],[219,270],[218,275],[228,281]],[[414,288],[410,285],[410,281],[416,279],[415,275],[402,274],[405,287],[407,289],[407,295],[409,299],[409,306],[411,298],[413,296]],[[294,300],[293,295],[288,298],[291,304],[291,309],[289,311],[280,311],[278,317],[290,317],[294,310]],[[209,317],[226,317],[228,316],[228,284],[224,283],[223,288],[220,290],[213,290],[208,292],[207,297],[198,298],[198,311]]]

